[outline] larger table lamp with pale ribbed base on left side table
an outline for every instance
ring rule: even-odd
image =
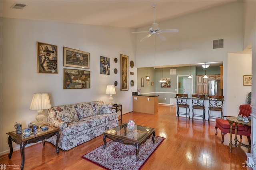
[[[34,93],[29,110],[37,110],[36,121],[37,127],[43,126],[44,115],[43,110],[50,109],[51,103],[48,93]]]

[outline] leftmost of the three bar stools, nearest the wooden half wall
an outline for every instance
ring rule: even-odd
[[[176,94],[176,100],[177,100],[177,118],[181,115],[186,115],[186,117],[190,119],[190,109],[188,105],[188,95],[187,94]],[[181,108],[186,108],[186,113],[180,112]],[[188,111],[187,111],[188,109]]]

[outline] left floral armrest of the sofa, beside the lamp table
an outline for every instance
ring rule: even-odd
[[[48,109],[47,122],[50,126],[60,128],[61,130],[68,127],[68,125],[65,122],[58,121],[56,111],[53,108]]]

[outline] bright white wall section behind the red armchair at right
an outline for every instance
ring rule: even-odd
[[[228,54],[228,84],[227,97],[224,101],[227,103],[227,115],[237,116],[242,104],[247,104],[248,93],[252,91],[252,86],[243,85],[243,75],[252,75],[252,55],[250,54]]]

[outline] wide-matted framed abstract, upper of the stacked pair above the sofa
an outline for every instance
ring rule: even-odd
[[[90,53],[63,47],[64,66],[89,69]]]

